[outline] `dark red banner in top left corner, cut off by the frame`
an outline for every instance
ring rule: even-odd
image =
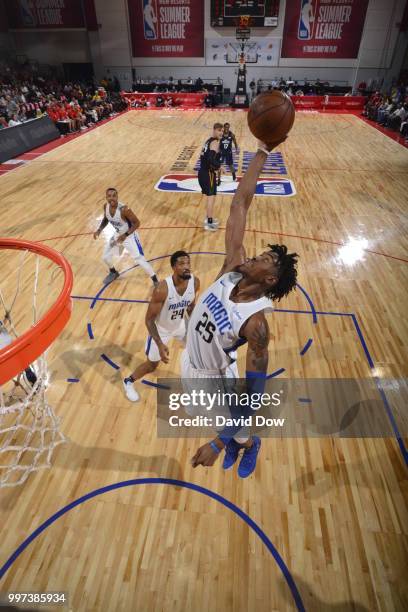
[[[83,28],[81,0],[6,0],[10,28]]]

